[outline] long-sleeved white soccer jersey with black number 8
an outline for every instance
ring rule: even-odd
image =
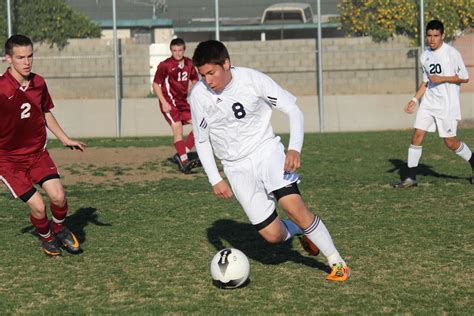
[[[231,72],[222,92],[215,93],[201,80],[189,98],[196,149],[212,185],[221,180],[213,154],[226,165],[278,141],[270,123],[273,108],[289,116],[288,149],[300,152],[303,146],[303,114],[296,98],[256,70],[232,67]]]

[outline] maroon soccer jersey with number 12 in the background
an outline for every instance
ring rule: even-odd
[[[179,106],[187,104],[190,80],[198,80],[191,59],[184,57],[184,64],[180,65],[173,57],[169,57],[158,65],[153,82],[161,85],[163,96],[171,105]]]

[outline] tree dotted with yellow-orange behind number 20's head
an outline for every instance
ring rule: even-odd
[[[419,2],[341,0],[338,5],[341,28],[350,36],[371,36],[376,42],[402,34],[419,43]],[[474,27],[472,0],[425,0],[424,3],[425,21],[442,21],[447,40]]]

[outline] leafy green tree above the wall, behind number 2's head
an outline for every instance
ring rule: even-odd
[[[6,1],[0,2],[0,39],[7,38]],[[11,0],[13,34],[25,34],[33,42],[64,48],[69,38],[100,37],[99,25],[69,7],[64,0]]]

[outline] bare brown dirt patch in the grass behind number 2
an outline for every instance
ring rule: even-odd
[[[189,178],[170,161],[171,146],[153,148],[87,148],[84,152],[50,149],[64,185],[76,183],[123,183],[158,181],[163,178]]]

